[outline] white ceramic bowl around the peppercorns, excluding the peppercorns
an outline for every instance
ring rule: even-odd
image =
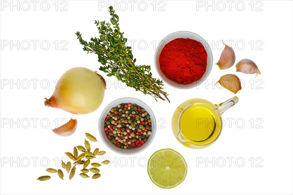
[[[111,141],[106,137],[105,131],[104,131],[104,124],[105,124],[105,117],[107,116],[108,112],[110,112],[111,108],[115,108],[118,104],[121,103],[135,103],[139,106],[141,106],[142,108],[144,108],[146,110],[146,112],[149,114],[150,119],[151,119],[151,135],[148,137],[147,141],[141,146],[141,147],[135,147],[135,148],[129,148],[129,149],[121,149],[118,148],[116,145],[112,144]],[[152,112],[152,110],[148,107],[148,105],[146,105],[145,102],[136,99],[136,98],[119,98],[116,99],[114,101],[112,101],[111,103],[109,103],[105,109],[103,110],[100,120],[99,120],[99,133],[100,136],[103,140],[103,142],[105,143],[105,145],[111,149],[112,151],[122,154],[122,155],[133,155],[133,154],[137,154],[139,152],[142,152],[143,150],[145,150],[153,141],[155,135],[156,135],[156,119],[155,119],[155,115]]]

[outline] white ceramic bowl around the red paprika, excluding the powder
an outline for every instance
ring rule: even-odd
[[[170,80],[169,78],[167,78],[164,75],[164,73],[160,69],[159,57],[160,57],[160,54],[161,54],[164,46],[168,42],[170,42],[171,40],[178,39],[178,38],[194,39],[194,40],[201,42],[203,44],[203,46],[205,47],[207,54],[208,54],[207,69],[206,69],[205,74],[199,80],[194,81],[190,84],[186,84],[186,85],[177,83],[173,80]],[[190,88],[193,88],[193,87],[201,84],[202,82],[204,82],[204,80],[206,78],[208,78],[209,73],[212,68],[212,53],[211,53],[211,49],[209,47],[209,44],[207,43],[207,41],[205,39],[203,39],[201,36],[199,36],[195,33],[189,32],[189,31],[178,31],[178,32],[174,32],[174,33],[169,34],[167,37],[162,39],[162,41],[164,41],[163,44],[159,44],[156,49],[156,52],[155,52],[155,66],[156,66],[156,70],[157,70],[158,74],[160,75],[161,78],[163,78],[163,80],[165,80],[165,82],[167,84],[171,85],[172,87],[178,88],[178,89],[190,89]]]

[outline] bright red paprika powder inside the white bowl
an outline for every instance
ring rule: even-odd
[[[207,69],[207,51],[193,39],[174,39],[167,43],[159,57],[164,75],[178,83],[189,84],[202,78]]]

